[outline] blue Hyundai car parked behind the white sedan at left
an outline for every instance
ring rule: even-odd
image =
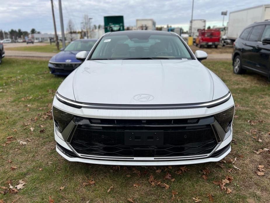
[[[97,39],[77,39],[70,42],[65,49],[50,59],[48,64],[50,73],[54,75],[69,75],[82,63],[76,59],[76,54],[80,51],[87,51],[89,53],[96,41]]]

